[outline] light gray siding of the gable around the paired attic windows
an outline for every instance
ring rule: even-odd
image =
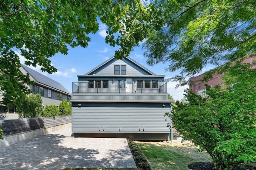
[[[125,58],[122,60],[113,59],[105,65],[101,66],[100,68],[96,69],[89,75],[114,75],[114,65],[126,65],[126,75],[152,75]]]

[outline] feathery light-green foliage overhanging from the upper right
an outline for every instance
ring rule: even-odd
[[[161,0],[163,27],[144,43],[147,63],[169,63],[180,71],[170,80],[184,85],[206,66],[256,54],[255,0]]]

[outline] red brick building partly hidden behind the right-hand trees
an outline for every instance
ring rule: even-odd
[[[254,63],[256,62],[256,57],[251,57],[245,59],[242,63]],[[252,68],[256,68],[256,66],[252,66]],[[218,74],[215,72],[212,74],[212,78],[208,80],[208,82],[202,82],[201,79],[204,77],[204,74],[200,74],[199,76],[193,76],[189,79],[190,83],[190,89],[197,95],[200,95],[202,97],[207,97],[206,86],[205,84],[208,84],[211,88],[214,88],[216,85],[220,85],[221,88],[225,88],[223,85],[222,76],[224,76],[224,73]]]

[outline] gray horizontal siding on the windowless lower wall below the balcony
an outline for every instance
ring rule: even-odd
[[[81,104],[80,108],[78,104]],[[164,117],[164,114],[170,111],[170,103],[165,105],[162,107],[162,103],[72,102],[72,132],[170,133]]]

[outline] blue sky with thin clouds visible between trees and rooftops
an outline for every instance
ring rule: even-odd
[[[72,82],[78,82],[77,75],[85,74],[92,70],[94,67],[103,63],[110,57],[112,57],[118,49],[118,47],[110,47],[110,45],[105,43],[106,37],[106,26],[100,24],[99,31],[96,34],[91,34],[91,42],[87,48],[76,47],[68,49],[68,55],[62,55],[60,53],[54,55],[50,60],[52,65],[58,69],[57,72],[48,74],[47,72],[41,72],[40,67],[36,68],[30,66],[34,70],[56,80],[63,84],[72,93]],[[143,56],[144,50],[142,50],[142,44],[140,47],[136,47],[134,51],[130,53],[130,58],[136,62],[142,64],[152,72],[158,75],[165,75],[165,78],[170,78],[178,74],[178,72],[165,72],[164,69],[168,67],[168,63],[159,63],[154,66],[149,66],[146,64],[147,58]],[[20,56],[20,61],[24,64],[24,57]],[[205,70],[202,70],[204,72]],[[184,89],[188,86],[180,87],[174,89],[177,82],[167,83],[167,92],[170,93],[174,100],[181,100],[184,95]]]

